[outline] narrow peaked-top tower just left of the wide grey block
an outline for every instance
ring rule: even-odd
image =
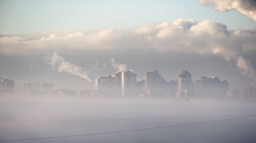
[[[178,99],[187,99],[194,95],[194,83],[191,80],[191,74],[187,70],[183,70],[178,77]]]

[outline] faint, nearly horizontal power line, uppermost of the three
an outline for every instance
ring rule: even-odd
[[[0,120],[0,122],[4,121],[31,121],[31,122],[48,122],[48,121],[126,121],[126,120],[167,120],[167,119],[193,119],[193,118],[221,118],[221,117],[241,117],[241,116],[253,116],[253,115],[224,115],[224,116],[196,116],[196,117],[170,117],[170,118],[128,118],[128,119],[69,119],[69,120]]]

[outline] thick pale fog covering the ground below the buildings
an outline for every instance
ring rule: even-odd
[[[173,126],[251,116],[256,114],[255,111],[254,102],[228,102],[217,99],[157,100],[2,95],[0,140]],[[256,117],[247,117],[159,129],[10,142],[158,142],[187,138],[175,142],[254,142],[256,132],[248,131],[256,131],[255,119]]]

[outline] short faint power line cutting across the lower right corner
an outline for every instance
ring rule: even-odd
[[[157,141],[157,142],[151,142],[151,143],[161,143],[161,142],[173,142],[173,141],[182,141],[182,140],[191,140],[191,139],[212,138],[212,137],[228,136],[228,135],[235,135],[235,134],[245,134],[245,133],[252,133],[252,132],[256,132],[256,130],[255,131],[247,131],[247,132],[237,132],[237,133],[221,134],[221,135],[212,135],[212,136],[202,136],[202,137],[193,137],[193,138],[181,138],[181,139]]]

